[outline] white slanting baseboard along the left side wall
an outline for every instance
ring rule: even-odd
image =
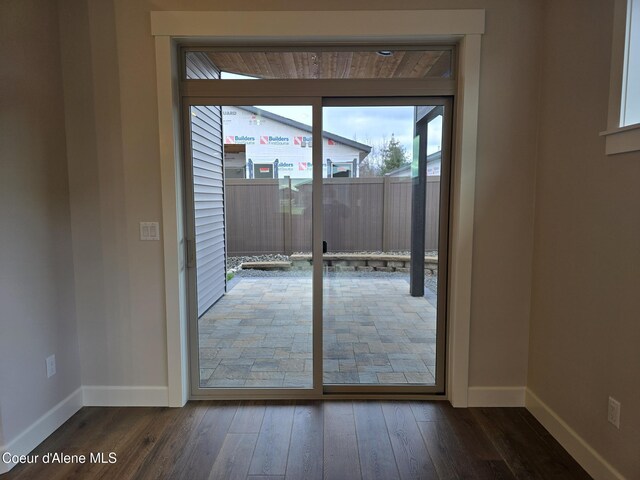
[[[2,455],[5,452],[9,452],[12,455],[29,454],[81,408],[82,388],[78,388],[38,420],[33,422],[16,438],[6,445],[0,446],[0,474],[8,472],[15,466],[15,463],[7,464],[2,461]]]

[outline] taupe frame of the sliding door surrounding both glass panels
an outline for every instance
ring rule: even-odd
[[[187,310],[188,310],[188,353],[189,353],[189,371],[190,371],[190,398],[191,399],[243,399],[243,398],[429,398],[443,399],[446,394],[446,324],[447,324],[447,278],[448,278],[448,237],[449,237],[449,171],[451,168],[451,146],[453,137],[453,115],[454,115],[454,97],[452,94],[448,96],[420,96],[414,97],[409,95],[397,95],[402,91],[402,83],[399,80],[394,83],[392,90],[397,96],[365,96],[368,92],[365,86],[358,89],[360,96],[351,97],[340,95],[344,92],[344,80],[334,80],[332,82],[323,82],[318,88],[316,86],[312,90],[314,93],[325,92],[325,96],[303,97],[295,94],[297,90],[291,85],[289,80],[281,80],[274,87],[278,89],[282,96],[271,97],[256,95],[255,88],[249,82],[238,80],[211,80],[206,81],[209,84],[216,82],[233,82],[242,96],[190,96],[187,89],[183,89],[182,95],[182,125],[183,125],[183,178],[184,185],[184,204],[185,204],[185,229],[187,237],[187,245],[191,245],[194,235],[193,203],[192,203],[192,185],[189,184],[192,178],[192,157],[190,142],[190,125],[192,106],[260,106],[260,105],[308,105],[312,108],[312,159],[313,159],[313,183],[312,183],[312,258],[321,259],[322,241],[323,241],[323,108],[336,106],[440,106],[443,111],[443,141],[442,141],[442,172],[440,180],[440,204],[439,204],[439,248],[438,248],[438,308],[437,308],[437,326],[436,326],[436,384],[435,385],[325,385],[323,380],[323,325],[324,325],[324,309],[323,309],[323,263],[313,261],[312,269],[312,388],[203,388],[200,386],[200,369],[199,369],[199,332],[198,332],[198,315],[197,315],[197,291],[195,281],[195,262],[187,261]],[[262,82],[262,81],[260,81]],[[312,80],[313,82],[313,80]],[[358,81],[354,81],[359,83]],[[294,82],[298,83],[298,82]],[[365,82],[369,84],[370,82]],[[432,91],[429,82],[425,82],[425,92]],[[209,86],[209,85],[207,85]],[[335,88],[331,88],[331,87]],[[285,92],[291,92],[292,96],[285,96]],[[377,89],[374,89],[377,91]],[[450,89],[451,93],[452,90]],[[253,95],[251,95],[253,93]],[[425,121],[425,120],[422,120]],[[445,124],[447,121],[448,124]],[[417,134],[417,132],[415,132]],[[426,144],[426,138],[423,139]],[[224,170],[224,165],[223,165]],[[224,202],[226,205],[226,202]],[[226,212],[225,212],[226,223]],[[189,249],[188,249],[189,250]],[[441,253],[442,252],[442,253]],[[191,255],[191,254],[189,254]],[[225,249],[226,257],[226,249]],[[215,308],[215,307],[212,307]]]

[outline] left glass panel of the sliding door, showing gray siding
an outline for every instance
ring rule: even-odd
[[[311,118],[311,106],[188,106],[197,394],[313,387]]]

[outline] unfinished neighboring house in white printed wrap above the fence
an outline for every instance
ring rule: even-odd
[[[222,107],[226,178],[311,178],[312,128],[256,107]],[[357,177],[371,147],[323,132],[323,177]],[[235,148],[234,148],[235,147]]]

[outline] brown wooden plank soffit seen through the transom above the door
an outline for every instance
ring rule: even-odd
[[[258,78],[448,78],[452,54],[444,50],[207,52],[221,70]]]

